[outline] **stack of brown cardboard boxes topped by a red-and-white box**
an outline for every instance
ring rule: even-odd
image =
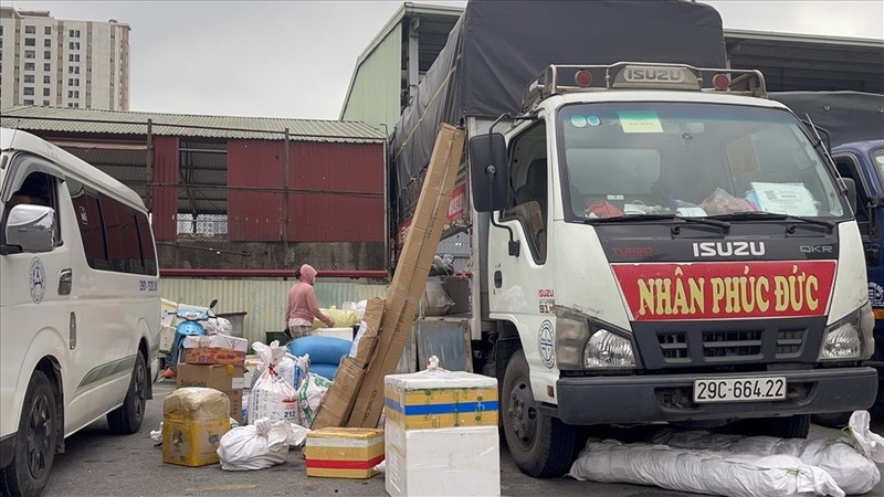
[[[177,387],[204,387],[220,390],[230,399],[230,417],[244,423],[242,390],[245,351],[249,341],[227,335],[185,338],[185,362],[178,364]]]

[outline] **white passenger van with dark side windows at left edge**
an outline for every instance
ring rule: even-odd
[[[140,197],[0,128],[0,495],[40,494],[64,438],[104,415],[140,429],[159,320]]]

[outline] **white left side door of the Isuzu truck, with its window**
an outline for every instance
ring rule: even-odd
[[[511,195],[507,208],[493,215],[502,226],[490,231],[490,306],[499,318],[518,328],[525,358],[532,370],[535,396],[546,401],[537,371],[555,368],[552,339],[555,314],[552,271],[548,261],[551,224],[550,161],[547,126],[539,121],[511,140]],[[511,255],[509,236],[519,241],[519,254]],[[548,384],[548,382],[543,382]]]

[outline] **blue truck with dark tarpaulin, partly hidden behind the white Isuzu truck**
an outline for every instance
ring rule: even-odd
[[[832,160],[842,178],[856,186],[856,223],[865,248],[869,300],[875,315],[875,350],[866,366],[878,371],[874,414],[884,415],[884,95],[861,92],[780,92],[771,99],[827,131]],[[850,413],[818,414],[836,426]]]

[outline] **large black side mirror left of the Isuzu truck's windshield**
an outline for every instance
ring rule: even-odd
[[[470,138],[470,183],[477,212],[498,211],[509,202],[509,161],[499,133]]]

